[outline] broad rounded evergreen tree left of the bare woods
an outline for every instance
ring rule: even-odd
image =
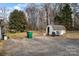
[[[14,10],[9,16],[9,29],[19,32],[26,30],[27,22],[22,11]]]

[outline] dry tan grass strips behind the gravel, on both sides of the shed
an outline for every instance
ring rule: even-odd
[[[43,36],[45,32],[40,31],[32,31],[33,37],[35,36]],[[27,37],[26,32],[17,32],[17,33],[7,33],[7,36],[9,36],[10,39],[22,39]],[[67,31],[66,34],[61,36],[63,38],[70,38],[70,39],[79,39],[79,32],[78,31]]]

